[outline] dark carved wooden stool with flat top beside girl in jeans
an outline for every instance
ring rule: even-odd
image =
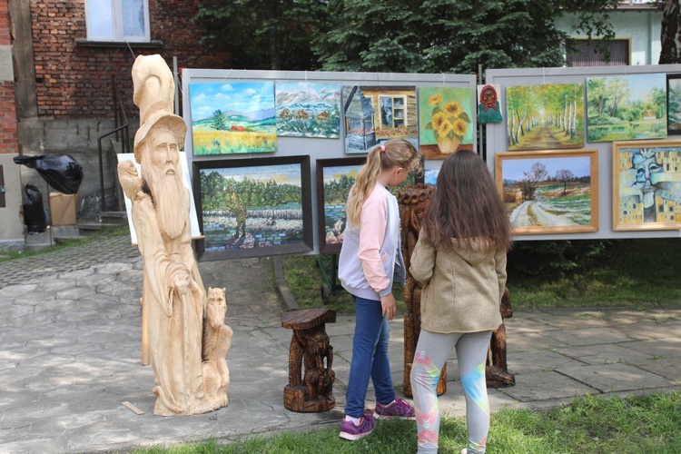
[[[325,308],[291,311],[281,316],[281,326],[293,330],[289,384],[284,388],[285,408],[315,412],[331,410],[336,405],[332,394],[336,380],[331,370],[333,347],[324,330],[324,323],[335,321],[336,312]],[[303,360],[304,376],[301,375]]]

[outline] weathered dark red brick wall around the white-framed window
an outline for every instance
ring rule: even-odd
[[[105,118],[114,113],[112,83],[121,95],[128,116],[139,114],[133,104],[131,70],[138,54],[161,54],[173,69],[180,67],[225,68],[229,55],[200,47],[202,29],[190,19],[197,1],[149,0],[153,41],[162,46],[140,49],[89,47],[84,40],[84,0],[37,0],[31,4],[35,54],[37,107],[40,118]],[[134,53],[134,54],[133,54]]]

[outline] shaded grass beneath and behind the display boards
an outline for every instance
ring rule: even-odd
[[[284,257],[286,282],[301,309],[320,307],[324,277],[321,259],[331,279],[331,255]],[[607,251],[575,271],[529,276],[508,266],[508,290],[513,309],[604,308],[646,309],[681,305],[681,241],[675,238],[611,240]],[[403,311],[401,288],[393,291],[398,313]],[[340,313],[353,311],[350,295],[341,289],[327,307]]]

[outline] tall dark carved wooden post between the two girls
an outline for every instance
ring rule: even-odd
[[[404,265],[407,268],[407,279],[404,286],[404,303],[407,312],[404,315],[404,378],[402,380],[404,395],[412,397],[410,372],[411,363],[414,360],[416,344],[419,341],[421,331],[421,283],[414,280],[410,273],[411,252],[414,251],[419,241],[421,222],[426,212],[430,196],[435,187],[432,184],[417,183],[401,189],[398,201],[400,202],[400,225],[402,235],[402,255]],[[438,395],[447,390],[447,364],[444,365],[439,375]]]

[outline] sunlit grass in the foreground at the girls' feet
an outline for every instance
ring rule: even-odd
[[[492,414],[488,452],[558,454],[572,452],[620,454],[681,452],[681,394],[597,398],[585,396],[548,411],[499,410]],[[304,433],[282,432],[229,444],[215,439],[175,447],[137,449],[151,453],[413,453],[417,447],[414,421],[378,421],[374,432],[350,442],[338,437],[339,427]],[[459,453],[466,446],[463,418],[444,417],[439,452]]]

